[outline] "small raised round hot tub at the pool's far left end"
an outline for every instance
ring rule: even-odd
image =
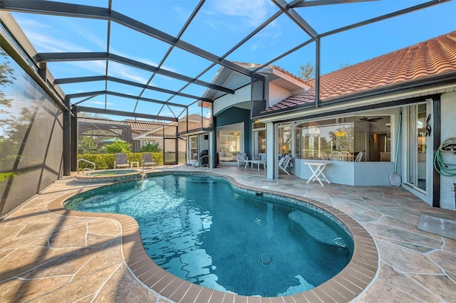
[[[75,175],[75,178],[81,183],[108,183],[141,179],[142,174],[135,169],[105,169],[103,171],[88,171],[82,175]]]

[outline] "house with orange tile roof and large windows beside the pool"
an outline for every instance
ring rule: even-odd
[[[276,67],[259,72],[267,75],[260,109],[254,98],[249,104],[255,87],[214,101],[216,151],[226,143],[249,156],[266,150],[271,179],[279,178],[280,154],[291,154],[293,174],[309,179],[306,162],[344,151],[351,161],[326,167],[331,183],[390,186],[396,170],[401,186],[419,198],[455,209],[456,176],[439,174],[433,161],[440,144],[456,137],[456,31],[322,75],[318,102],[315,80]],[[215,79],[229,81],[236,79]],[[222,137],[234,132],[235,139]],[[456,164],[455,153],[442,152],[442,159]]]

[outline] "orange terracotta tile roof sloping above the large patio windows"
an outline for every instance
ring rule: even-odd
[[[456,31],[322,75],[320,99],[324,102],[342,95],[454,71]],[[312,88],[299,95],[287,97],[266,108],[261,114],[291,110],[292,107],[314,103],[315,79],[305,83]]]

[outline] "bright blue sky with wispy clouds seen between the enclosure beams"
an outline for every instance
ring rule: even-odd
[[[108,0],[68,0],[72,4],[107,7]],[[388,14],[408,6],[422,4],[423,0],[365,1],[354,4],[314,6],[296,9],[317,33],[326,33],[351,23]],[[135,18],[172,37],[180,35],[182,26],[195,10],[196,0],[113,0],[114,11]],[[227,53],[261,23],[276,14],[278,6],[269,0],[207,0],[196,18],[182,33],[181,40],[209,51],[227,60],[264,64],[309,40],[309,36],[284,14],[281,14],[253,38],[232,53]],[[19,26],[31,40],[38,53],[48,52],[106,52],[107,28],[105,20],[71,18],[38,14],[13,13]],[[456,1],[450,1],[410,14],[388,18],[385,21],[353,28],[321,39],[321,74],[331,73],[342,65],[353,65],[415,43],[456,30]],[[115,22],[110,23],[109,51],[153,66],[159,66],[170,50],[167,43],[138,33]],[[315,64],[315,43],[296,50],[272,65],[297,75],[300,65]],[[210,83],[219,65],[202,73],[211,62],[173,48],[161,68],[182,73]],[[48,63],[54,78],[71,78],[104,75],[105,60]],[[128,65],[108,63],[108,75],[137,83],[147,83],[152,73]],[[206,87],[188,85],[163,75],[155,75],[150,85],[168,90],[182,90],[201,96]],[[61,85],[66,94],[84,91],[108,90],[138,96],[140,87],[104,81]],[[172,97],[164,92],[146,90],[142,97],[152,100],[169,100],[188,105],[195,99]],[[172,98],[171,98],[172,97]],[[171,99],[170,99],[171,98]],[[83,101],[85,98],[72,100]],[[83,101],[88,107],[107,107],[111,110],[147,112],[151,115],[178,117],[182,107],[157,105],[152,102],[125,100],[115,96],[98,96]],[[197,105],[192,111],[197,111]],[[118,119],[118,118],[117,118]]]

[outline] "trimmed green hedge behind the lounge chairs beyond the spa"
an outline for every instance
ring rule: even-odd
[[[152,158],[155,160],[157,165],[163,164],[163,153],[152,152]],[[86,159],[87,161],[93,162],[96,165],[96,169],[113,169],[114,168],[114,154],[78,154],[78,159]],[[142,153],[128,153],[127,159],[130,162],[140,162],[142,160]],[[91,169],[93,166],[85,161],[79,162],[79,170]]]

